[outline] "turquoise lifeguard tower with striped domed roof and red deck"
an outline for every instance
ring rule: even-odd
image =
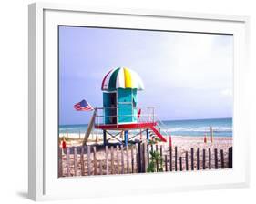
[[[128,145],[128,141],[138,135],[141,138],[144,132],[148,140],[154,135],[166,142],[166,138],[158,130],[154,107],[137,106],[138,92],[143,89],[141,78],[128,68],[112,69],[103,78],[103,107],[96,108],[94,125],[96,129],[103,130],[104,145],[111,138]],[[138,134],[129,137],[129,130],[138,130]]]

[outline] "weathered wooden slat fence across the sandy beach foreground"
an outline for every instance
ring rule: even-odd
[[[217,148],[190,148],[134,144],[120,146],[85,146],[59,149],[59,177],[147,172],[150,151],[159,152],[157,171],[188,171],[232,168],[232,147],[226,152]]]

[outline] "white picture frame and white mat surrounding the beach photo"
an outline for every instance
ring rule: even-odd
[[[249,185],[249,110],[244,97],[248,66],[249,17],[172,11],[29,5],[28,196],[34,200],[115,196]],[[231,170],[169,174],[57,178],[57,25],[146,28],[234,35],[234,166]],[[52,136],[52,137],[49,137]],[[57,136],[57,135],[56,135]],[[100,194],[98,193],[100,192]]]

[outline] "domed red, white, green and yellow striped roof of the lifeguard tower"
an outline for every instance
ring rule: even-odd
[[[113,91],[117,88],[137,88],[143,90],[144,85],[138,74],[128,68],[118,67],[112,69],[103,78],[101,90]]]

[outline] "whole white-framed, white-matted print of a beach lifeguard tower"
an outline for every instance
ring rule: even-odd
[[[248,22],[29,5],[29,198],[247,186]]]

